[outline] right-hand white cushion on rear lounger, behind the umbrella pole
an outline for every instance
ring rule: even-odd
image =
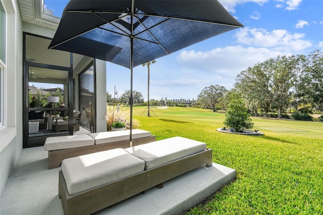
[[[89,135],[95,140],[95,144],[102,144],[121,140],[128,140],[130,136],[130,130],[98,132]],[[132,139],[150,136],[151,133],[149,131],[144,131],[140,129],[132,130]]]

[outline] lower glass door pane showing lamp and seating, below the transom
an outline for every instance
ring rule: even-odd
[[[28,64],[27,71],[28,124],[26,123],[26,125],[28,127],[28,147],[31,147],[42,145],[43,139],[48,136],[70,133],[69,71],[29,66]]]

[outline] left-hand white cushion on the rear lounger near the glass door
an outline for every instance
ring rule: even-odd
[[[46,151],[76,148],[81,146],[94,145],[94,140],[87,134],[70,135],[60,137],[47,137],[44,144]]]

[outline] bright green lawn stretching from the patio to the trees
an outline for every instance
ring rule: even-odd
[[[234,182],[187,214],[323,214],[323,123],[252,118],[264,135],[244,136],[216,131],[222,113],[169,107],[146,117],[145,109],[134,107],[140,129],[157,140],[205,142],[214,163],[237,171]]]

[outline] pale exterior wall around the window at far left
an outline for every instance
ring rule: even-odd
[[[0,130],[0,191],[22,151],[22,20],[16,1],[2,1],[7,12],[4,78],[5,126]]]

